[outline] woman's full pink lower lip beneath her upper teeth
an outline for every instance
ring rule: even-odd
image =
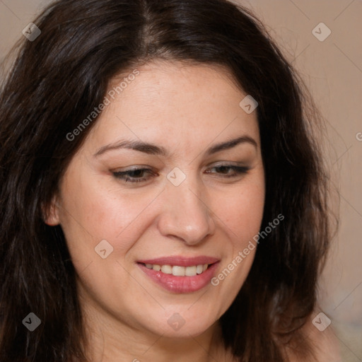
[[[137,263],[142,271],[146,273],[153,281],[168,291],[173,293],[192,293],[199,291],[210,283],[214,276],[218,262],[211,264],[202,274],[194,276],[175,276],[165,274],[162,271],[148,269],[144,264]]]

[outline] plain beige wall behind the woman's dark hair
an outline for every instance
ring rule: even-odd
[[[326,157],[339,187],[340,228],[321,283],[320,310],[332,320],[343,361],[362,361],[362,1],[238,2],[264,21],[327,119]],[[0,59],[48,3],[0,0]],[[321,22],[331,30],[322,42],[312,33]],[[317,27],[316,35],[327,35],[327,28]]]

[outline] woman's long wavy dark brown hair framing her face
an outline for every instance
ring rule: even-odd
[[[225,66],[259,103],[262,230],[285,219],[259,244],[220,322],[240,361],[286,361],[284,346],[298,346],[315,308],[330,235],[327,177],[313,108],[262,24],[225,0],[60,0],[34,23],[42,33],[21,41],[0,95],[1,362],[84,360],[76,271],[62,228],[42,211],[96,121],[74,141],[66,135],[113,77],[151,59]],[[30,312],[42,320],[34,332],[22,325]]]

